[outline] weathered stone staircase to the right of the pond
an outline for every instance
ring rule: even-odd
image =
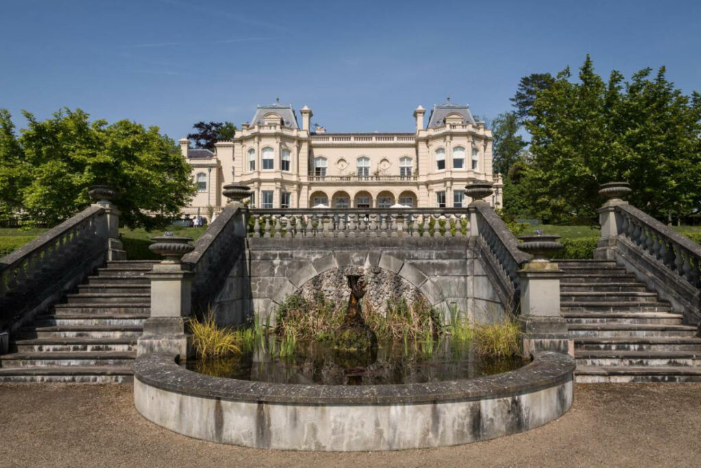
[[[577,382],[701,382],[701,338],[615,262],[555,260]]]

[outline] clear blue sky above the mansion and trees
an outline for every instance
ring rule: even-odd
[[[0,107],[157,125],[249,120],[280,97],[329,131],[412,131],[413,109],[510,109],[521,76],[667,66],[701,91],[699,1],[0,0]]]

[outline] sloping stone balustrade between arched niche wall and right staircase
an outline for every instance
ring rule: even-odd
[[[501,286],[505,307],[516,307],[520,294],[519,269],[532,255],[519,250],[519,241],[488,203],[472,203],[477,221],[480,249]]]

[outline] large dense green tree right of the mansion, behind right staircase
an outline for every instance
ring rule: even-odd
[[[531,163],[521,184],[531,215],[594,221],[599,184],[627,180],[630,201],[653,216],[701,206],[701,97],[689,98],[644,69],[623,82],[594,73],[587,55],[571,83],[569,69],[540,91],[526,122]]]

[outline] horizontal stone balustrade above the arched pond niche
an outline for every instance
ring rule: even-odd
[[[258,208],[248,235],[257,237],[466,237],[465,208]]]

